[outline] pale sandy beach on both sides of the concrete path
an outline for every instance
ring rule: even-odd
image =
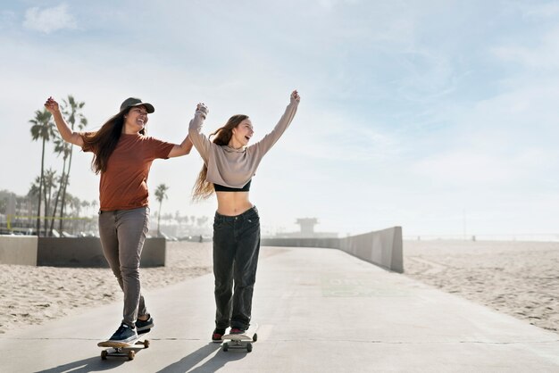
[[[559,243],[405,241],[404,266],[404,276],[559,333]],[[150,290],[211,271],[211,242],[169,242],[166,266],[140,275]],[[0,264],[0,283],[0,333],[122,299],[110,269]]]

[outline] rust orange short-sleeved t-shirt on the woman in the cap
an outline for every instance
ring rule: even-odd
[[[147,176],[154,159],[167,159],[174,144],[140,134],[122,134],[101,173],[101,211],[131,210],[147,206]],[[87,152],[88,149],[84,149]]]

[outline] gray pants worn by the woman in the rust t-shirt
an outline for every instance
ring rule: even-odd
[[[124,293],[122,321],[134,326],[146,315],[140,293],[139,264],[149,222],[149,207],[133,210],[99,211],[99,236],[103,253]]]

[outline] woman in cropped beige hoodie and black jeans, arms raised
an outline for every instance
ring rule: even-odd
[[[278,124],[262,140],[248,145],[254,135],[246,115],[234,115],[210,137],[202,133],[208,114],[198,104],[188,137],[204,160],[194,187],[194,199],[217,196],[213,220],[213,275],[215,277],[215,330],[221,342],[225,330],[242,334],[250,325],[256,267],[260,250],[260,217],[249,200],[250,184],[258,165],[295,117],[300,97],[290,95]]]

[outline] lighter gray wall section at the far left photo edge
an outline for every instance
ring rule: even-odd
[[[37,236],[0,236],[0,264],[37,265]]]

